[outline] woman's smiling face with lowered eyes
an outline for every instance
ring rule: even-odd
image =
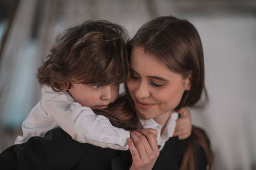
[[[129,94],[141,118],[169,115],[180,103],[184,90],[189,90],[189,79],[171,71],[164,62],[142,47],[131,52],[132,76],[127,81]]]

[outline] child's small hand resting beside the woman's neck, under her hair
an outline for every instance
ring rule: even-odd
[[[190,136],[192,130],[191,116],[188,110],[185,108],[179,111],[180,118],[176,120],[176,127],[173,136],[178,136],[178,138],[186,139]]]

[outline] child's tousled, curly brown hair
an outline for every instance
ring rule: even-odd
[[[109,85],[129,77],[123,27],[105,20],[86,21],[67,29],[56,38],[56,45],[38,68],[40,85],[60,92],[71,83]]]

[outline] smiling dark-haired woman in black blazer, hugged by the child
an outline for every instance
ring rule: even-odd
[[[99,148],[74,141],[61,129],[44,138],[8,148],[4,164],[18,169],[206,169],[212,152],[204,131],[193,127],[186,141],[169,138],[173,113],[192,107],[204,90],[204,56],[200,37],[187,20],[159,17],[143,25],[128,43],[131,78],[127,95],[108,110],[98,110],[113,125],[139,129],[138,120],[153,118],[161,127],[163,149],[156,134],[142,129],[131,132],[130,152]],[[147,127],[152,127],[147,125]],[[10,167],[9,167],[10,169]]]

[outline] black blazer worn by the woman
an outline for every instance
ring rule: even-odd
[[[170,138],[153,169],[179,169],[185,141]],[[204,152],[198,157],[205,169]],[[0,154],[0,169],[129,169],[132,159],[129,151],[100,148],[74,141],[60,128],[52,129],[44,138],[33,137],[26,143],[13,145]]]

